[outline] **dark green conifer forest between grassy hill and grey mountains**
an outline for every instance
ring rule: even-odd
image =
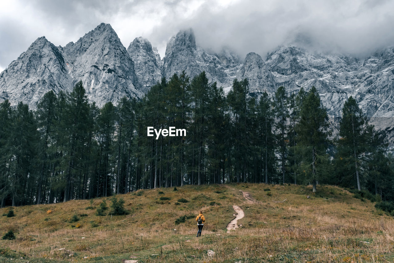
[[[20,206],[91,199],[185,184],[334,184],[394,200],[393,156],[384,131],[357,101],[327,116],[315,87],[225,95],[205,72],[162,79],[140,101],[89,103],[82,81],[50,91],[32,110],[0,104],[0,201]],[[186,136],[147,136],[147,127]]]

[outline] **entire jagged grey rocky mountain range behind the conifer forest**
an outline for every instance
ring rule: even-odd
[[[205,71],[228,92],[235,78],[249,80],[251,96],[273,93],[285,86],[288,93],[316,86],[333,120],[344,101],[353,96],[370,123],[388,132],[394,142],[394,51],[386,48],[365,59],[342,54],[316,53],[295,45],[278,47],[266,58],[249,53],[243,62],[236,54],[204,50],[193,30],[181,30],[167,43],[163,59],[144,38],[128,49],[109,24],[100,24],[76,43],[55,47],[38,38],[0,73],[0,101],[19,101],[34,108],[49,90],[71,90],[82,80],[90,101],[102,106],[123,96],[141,98],[162,77],[182,71],[193,77]]]

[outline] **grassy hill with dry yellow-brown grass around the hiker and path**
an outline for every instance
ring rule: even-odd
[[[0,240],[0,262],[394,262],[394,219],[335,186],[312,194],[307,186],[241,183],[117,197],[129,214],[97,216],[110,198],[15,207],[14,217],[0,216],[0,235],[16,236]],[[227,233],[232,205],[245,217]],[[197,238],[199,210],[206,223]]]

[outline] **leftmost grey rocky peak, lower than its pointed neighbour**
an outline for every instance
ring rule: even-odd
[[[0,101],[19,101],[35,107],[49,90],[58,93],[72,88],[69,68],[57,47],[45,37],[37,38],[28,50],[0,73]]]

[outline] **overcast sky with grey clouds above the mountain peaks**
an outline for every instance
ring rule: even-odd
[[[158,47],[180,29],[242,58],[295,43],[365,56],[394,45],[394,0],[0,0],[0,72],[40,36],[58,45],[110,23],[123,45],[143,36]]]

